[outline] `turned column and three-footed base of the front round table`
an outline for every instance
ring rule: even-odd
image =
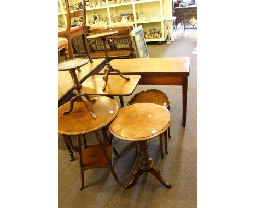
[[[167,188],[171,188],[172,185],[162,179],[161,174],[157,168],[153,166],[153,160],[149,158],[148,155],[148,145],[146,141],[139,142],[139,149],[141,152],[141,160],[138,162],[137,168],[133,170],[132,179],[125,184],[125,189],[130,188],[133,183],[135,183],[139,176],[141,176],[144,172],[150,172],[155,176],[155,178],[165,185]]]

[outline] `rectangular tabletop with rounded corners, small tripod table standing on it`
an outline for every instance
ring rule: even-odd
[[[105,91],[102,91],[104,80],[101,75],[93,75],[86,79],[82,84],[82,91],[89,95],[110,95],[110,96],[128,96],[133,93],[139,79],[139,75],[127,76],[130,80],[125,80],[118,75],[109,75],[108,84]]]

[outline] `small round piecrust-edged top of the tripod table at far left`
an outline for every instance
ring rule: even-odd
[[[67,71],[71,69],[77,69],[81,66],[84,66],[89,62],[88,58],[72,58],[69,60],[64,60],[58,64],[59,71]]]

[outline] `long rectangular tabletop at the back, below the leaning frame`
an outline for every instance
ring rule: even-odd
[[[114,59],[113,68],[118,68],[122,74],[158,74],[158,75],[189,75],[190,59],[188,57],[168,58],[133,58]],[[100,71],[104,74],[104,69]]]

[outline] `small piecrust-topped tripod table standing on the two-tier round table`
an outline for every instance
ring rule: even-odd
[[[74,79],[74,89],[77,91],[77,93],[75,93],[75,96],[72,97],[72,99],[70,100],[69,109],[66,109],[66,111],[63,111],[63,115],[66,115],[72,111],[74,102],[83,102],[88,108],[88,111],[91,114],[92,118],[96,119],[96,115],[91,112],[91,107],[89,105],[89,102],[94,102],[95,98],[90,99],[87,93],[83,93],[81,91],[82,84],[79,83],[77,74],[75,73],[75,69],[81,66],[84,66],[88,62],[89,62],[88,58],[73,58],[73,59],[65,60],[58,64],[59,71],[69,71],[71,73],[71,76]]]

